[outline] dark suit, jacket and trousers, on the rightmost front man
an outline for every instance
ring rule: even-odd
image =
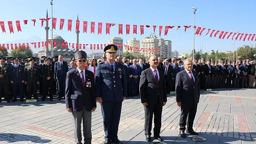
[[[197,104],[200,97],[200,86],[197,73],[191,71],[194,76],[194,83],[186,70],[180,71],[176,75],[176,101],[181,102],[181,114],[180,114],[180,131],[185,131],[186,122],[188,117],[188,130],[192,129],[193,122],[196,116]]]

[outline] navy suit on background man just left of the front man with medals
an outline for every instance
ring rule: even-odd
[[[58,91],[59,91],[58,98],[59,99],[64,97],[65,86],[66,86],[65,79],[66,79],[66,76],[67,76],[67,72],[68,72],[68,63],[67,62],[62,61],[62,66],[61,66],[60,61],[55,62],[55,65],[54,65],[54,79],[57,79]]]

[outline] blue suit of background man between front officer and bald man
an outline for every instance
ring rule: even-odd
[[[135,76],[135,75],[138,76],[138,78],[134,78],[134,77],[131,78],[132,83],[133,83],[133,90],[132,90],[133,95],[137,95],[138,94],[137,90],[138,90],[139,77],[141,75],[141,67],[136,65],[136,70],[134,69],[134,65],[130,65],[130,67],[132,69],[131,70],[132,71],[131,72],[132,76]]]

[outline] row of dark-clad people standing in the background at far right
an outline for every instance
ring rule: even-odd
[[[255,62],[211,59],[193,60],[193,70],[200,78],[201,89],[252,88],[255,83]]]

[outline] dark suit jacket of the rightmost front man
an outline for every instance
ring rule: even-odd
[[[195,78],[194,85],[191,83],[191,80],[188,76],[186,70],[180,71],[176,75],[176,101],[182,102],[182,109],[188,110],[193,104],[193,99],[197,104],[200,98],[200,86],[199,86],[199,78],[197,77],[197,73],[192,71],[192,74]]]

